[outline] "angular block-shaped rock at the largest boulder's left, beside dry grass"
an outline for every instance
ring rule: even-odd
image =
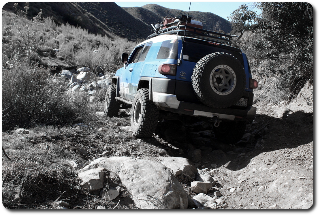
[[[96,191],[103,188],[103,175],[101,171],[95,169],[80,172],[78,174],[81,180],[81,187],[86,188],[88,191]]]

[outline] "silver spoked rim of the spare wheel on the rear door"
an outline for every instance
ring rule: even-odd
[[[210,85],[219,95],[228,95],[236,87],[236,74],[228,65],[218,65],[210,74]]]

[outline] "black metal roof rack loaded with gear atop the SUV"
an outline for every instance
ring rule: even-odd
[[[174,18],[174,19],[175,21],[167,24],[160,24],[160,23],[151,24],[154,30],[154,33],[149,35],[147,39],[150,39],[152,37],[159,36],[159,35],[175,34],[180,36],[194,37],[194,38],[207,40],[211,42],[231,45],[230,39],[234,35],[230,36],[227,34],[205,30],[202,28],[196,28],[193,26],[185,25],[185,22],[181,21],[181,19],[179,18]],[[185,30],[185,28],[187,28],[187,30]]]

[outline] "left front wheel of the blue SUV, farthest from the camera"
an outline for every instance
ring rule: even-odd
[[[104,101],[104,115],[108,117],[117,116],[120,104],[116,101],[116,85],[110,84]]]

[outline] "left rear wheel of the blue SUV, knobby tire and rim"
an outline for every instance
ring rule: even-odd
[[[131,108],[131,129],[136,137],[151,137],[159,120],[159,109],[149,100],[149,89],[139,89]]]

